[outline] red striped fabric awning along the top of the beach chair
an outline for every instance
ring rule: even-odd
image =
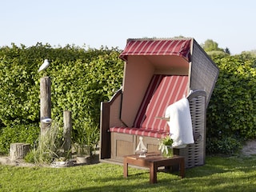
[[[128,39],[120,58],[128,55],[176,55],[190,61],[191,39]]]

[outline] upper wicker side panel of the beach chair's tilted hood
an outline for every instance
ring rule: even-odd
[[[191,55],[191,90],[206,91],[206,106],[210,102],[210,96],[214,90],[218,78],[218,66],[209,58],[197,42],[193,43]]]

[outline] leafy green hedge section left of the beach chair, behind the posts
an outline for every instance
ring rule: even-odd
[[[1,47],[0,131],[3,134],[6,127],[39,123],[39,83],[46,75],[52,83],[54,122],[62,125],[63,110],[70,110],[74,130],[83,129],[85,124],[98,125],[100,102],[108,101],[122,85],[119,54],[116,48],[51,47],[41,43]],[[45,58],[50,60],[50,67],[38,73]]]

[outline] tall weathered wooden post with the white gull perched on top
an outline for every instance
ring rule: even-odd
[[[51,100],[50,100],[50,78],[40,78],[40,122],[41,134],[45,134],[50,128],[49,124],[42,122],[44,118],[51,118]]]

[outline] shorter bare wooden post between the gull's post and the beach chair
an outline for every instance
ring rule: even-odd
[[[72,119],[71,119],[71,111],[64,110],[63,111],[63,138],[64,138],[64,145],[63,150],[65,154],[69,154],[71,148],[71,130],[72,130]]]

